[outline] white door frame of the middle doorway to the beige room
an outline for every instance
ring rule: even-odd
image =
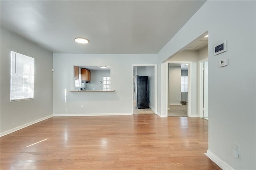
[[[188,64],[188,117],[191,117],[191,75],[192,75],[192,62],[191,61],[167,61],[166,62],[166,117],[168,117],[168,64],[169,63],[175,63],[175,64],[180,64],[180,63],[187,63]]]

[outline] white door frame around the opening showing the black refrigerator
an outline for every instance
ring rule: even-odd
[[[134,99],[134,76],[133,76],[133,68],[134,66],[154,66],[154,113],[157,113],[157,64],[132,64],[132,115],[134,114],[134,106],[133,106],[133,99]]]

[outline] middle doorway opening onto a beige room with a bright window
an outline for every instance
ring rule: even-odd
[[[167,61],[166,67],[166,117],[190,116],[191,62]]]

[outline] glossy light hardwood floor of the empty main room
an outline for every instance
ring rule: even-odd
[[[208,121],[155,114],[52,117],[1,140],[1,170],[220,169]]]

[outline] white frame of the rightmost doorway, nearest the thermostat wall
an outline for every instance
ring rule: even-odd
[[[208,58],[198,61],[198,111],[199,117],[204,116],[204,62],[208,61]]]

